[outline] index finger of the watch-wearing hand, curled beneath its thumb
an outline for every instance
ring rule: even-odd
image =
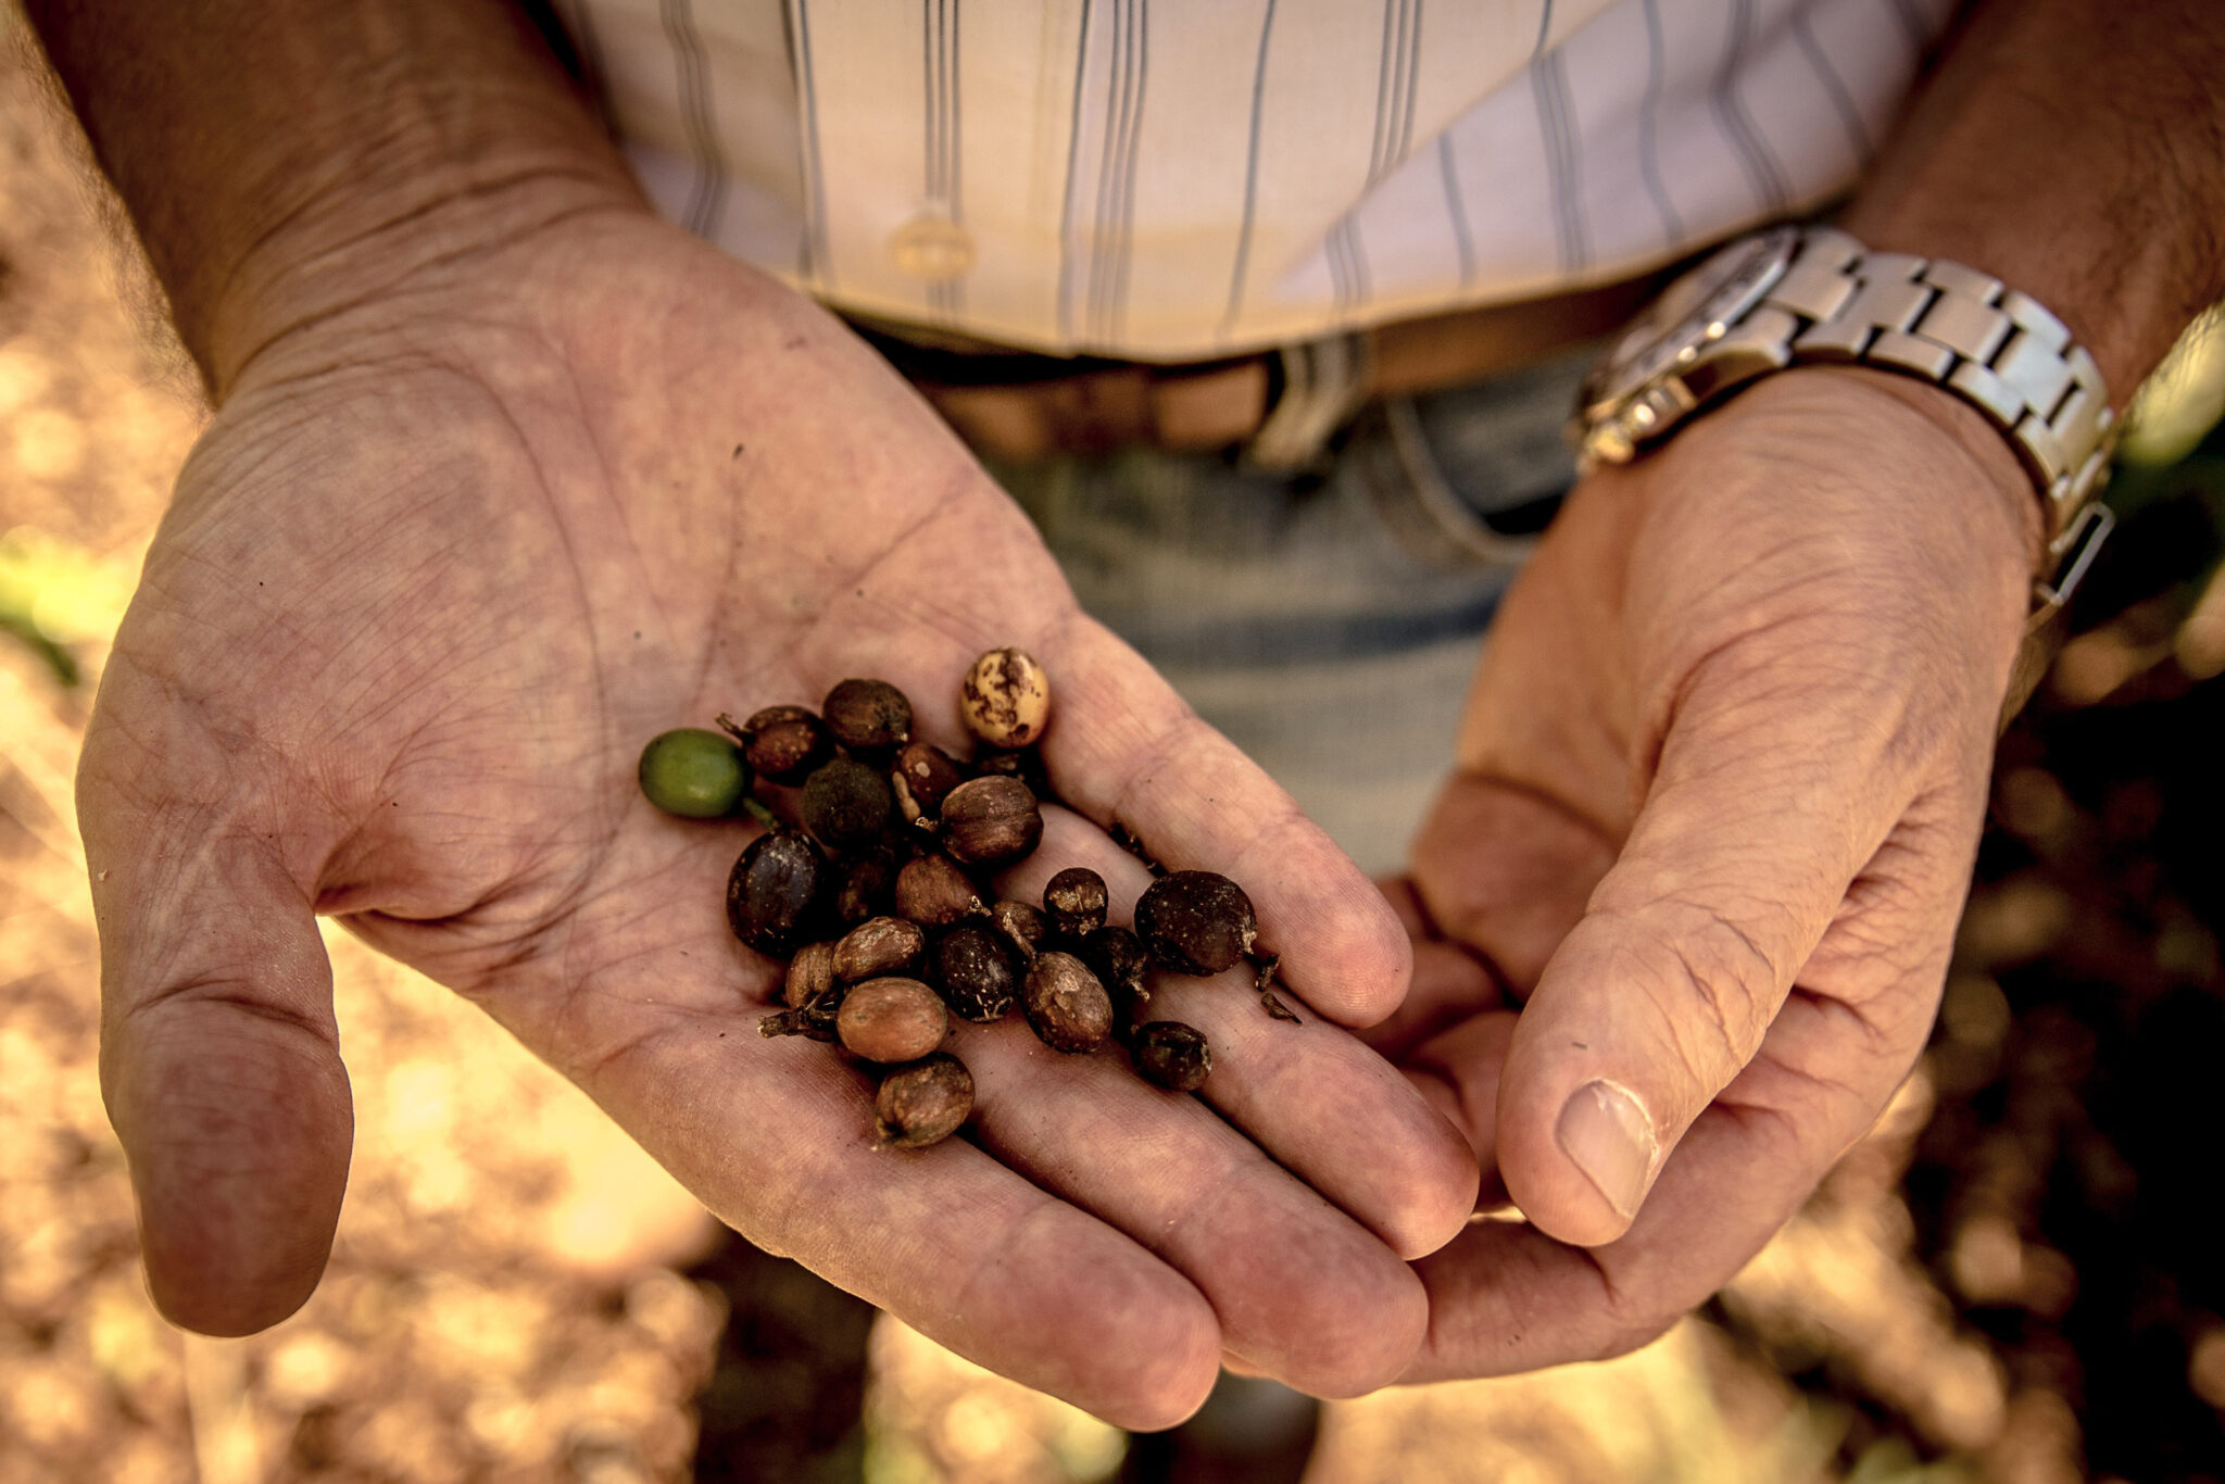
[[[1417,1264],[1431,1328],[1406,1382],[1511,1375],[1633,1351],[1704,1304],[1784,1226],[1914,1059],[1856,1050],[1847,1008],[1793,997],[1756,1063],[1693,1121],[1615,1241],[1480,1221]],[[1920,1046],[1920,1032],[1916,1035]],[[1451,1063],[1460,1063],[1448,1057]],[[1482,1081],[1473,1095],[1482,1090]]]

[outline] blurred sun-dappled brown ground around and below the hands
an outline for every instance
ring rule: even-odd
[[[69,776],[202,412],[80,149],[9,51],[0,1484],[1112,1477],[1119,1433],[723,1237],[340,932],[358,1146],[332,1273],[254,1339],[156,1317]],[[2198,403],[2120,483],[2098,627],[2005,743],[1940,1032],[1876,1135],[1707,1315],[1604,1366],[1328,1406],[1311,1484],[2225,1480],[2225,687],[2196,681],[2225,667],[2201,585],[2225,452],[2192,447]]]

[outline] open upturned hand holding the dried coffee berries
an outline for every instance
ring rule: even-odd
[[[1133,901],[1112,819],[1233,874],[1308,1023],[1168,988],[1215,1039],[1210,1106],[961,1028],[972,1139],[874,1152],[868,1079],[756,1035],[777,968],[723,919],[750,830],[659,814],[634,761],[850,674],[955,748],[997,643],[1057,690],[1079,814],[1041,874],[1086,859]],[[641,211],[434,256],[245,365],[118,634],[80,812],[102,1081],[191,1328],[285,1317],[332,1241],[352,1115],[316,912],[485,1006],[759,1246],[1115,1422],[1179,1419],[1224,1351],[1391,1379],[1424,1326],[1400,1259],[1473,1204],[1457,1132],[1328,1023],[1404,990],[1373,888],[1077,612],[870,352]]]

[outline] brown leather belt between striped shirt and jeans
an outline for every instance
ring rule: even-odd
[[[1253,467],[1302,469],[1371,400],[1511,372],[1598,338],[1673,271],[1181,365],[1039,356],[912,325],[852,325],[981,454],[1242,447]]]

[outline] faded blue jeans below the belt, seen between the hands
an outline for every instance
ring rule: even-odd
[[[1404,865],[1500,594],[1575,478],[1584,347],[1371,407],[1306,476],[1128,449],[990,463],[1081,607],[1362,868]]]

